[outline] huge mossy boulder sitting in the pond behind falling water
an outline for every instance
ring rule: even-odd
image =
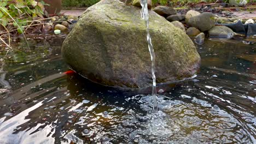
[[[63,42],[63,59],[80,75],[103,85],[152,85],[146,26],[140,11],[119,0],[103,0],[88,8]],[[151,10],[149,21],[156,82],[193,76],[200,65],[193,41]]]

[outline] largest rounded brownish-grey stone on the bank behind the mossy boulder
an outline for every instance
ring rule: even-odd
[[[209,12],[202,13],[200,15],[191,17],[188,21],[188,25],[198,28],[200,31],[208,31],[215,26],[214,15]]]

